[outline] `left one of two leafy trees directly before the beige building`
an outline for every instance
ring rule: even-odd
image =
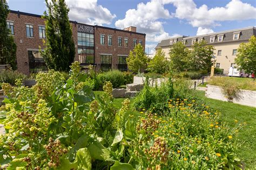
[[[190,51],[182,42],[173,44],[170,48],[170,68],[176,72],[183,72],[187,69],[187,57]]]

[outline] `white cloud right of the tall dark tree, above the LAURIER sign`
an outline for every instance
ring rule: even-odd
[[[107,8],[98,5],[97,0],[66,0],[66,4],[70,9],[69,18],[77,22],[92,25],[111,24],[112,19],[116,17]]]

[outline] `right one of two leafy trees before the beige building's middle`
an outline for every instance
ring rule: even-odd
[[[207,71],[210,72],[213,64],[213,46],[206,45],[205,41],[196,42],[192,46],[192,51],[188,56],[188,67],[193,71]]]

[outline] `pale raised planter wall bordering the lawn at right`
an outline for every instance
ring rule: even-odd
[[[230,101],[223,94],[221,87],[207,84],[205,96],[221,101]],[[247,105],[250,107],[256,107],[256,91],[251,90],[240,90],[236,97],[233,98],[233,103]]]

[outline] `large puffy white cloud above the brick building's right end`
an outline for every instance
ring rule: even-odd
[[[164,31],[163,22],[159,19],[169,19],[172,16],[164,8],[164,4],[159,0],[139,3],[137,9],[127,10],[124,19],[119,19],[115,23],[119,29],[129,26],[136,26],[138,32],[146,33],[147,41],[158,42],[169,37],[169,33]]]

